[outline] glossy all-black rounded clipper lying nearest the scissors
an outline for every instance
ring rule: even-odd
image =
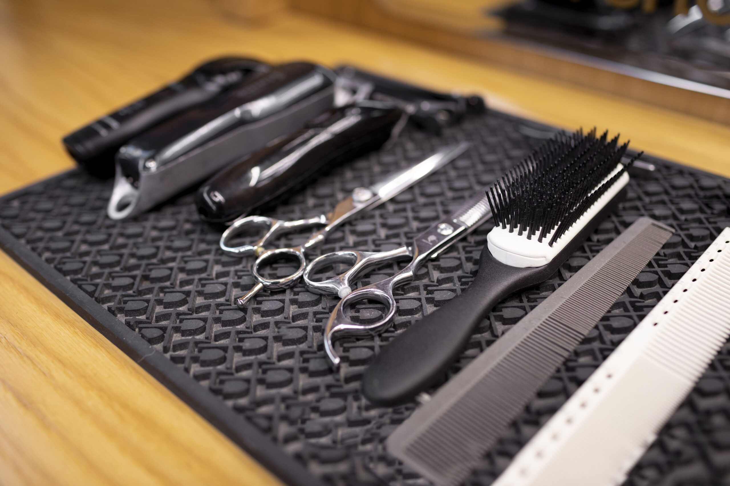
[[[201,217],[229,223],[269,204],[320,171],[377,150],[397,136],[406,117],[382,101],[331,109],[304,128],[228,166],[196,195]]]

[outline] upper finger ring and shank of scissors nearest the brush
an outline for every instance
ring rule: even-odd
[[[333,294],[344,298],[353,291],[353,283],[366,270],[390,261],[410,257],[411,253],[407,247],[399,247],[387,252],[359,252],[357,250],[331,252],[315,258],[307,265],[307,268],[304,269],[304,283],[307,285],[307,290],[314,293]],[[350,269],[337,277],[320,282],[312,280],[315,271],[334,263],[345,263],[350,265]]]

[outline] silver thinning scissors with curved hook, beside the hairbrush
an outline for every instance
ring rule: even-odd
[[[443,218],[415,236],[409,245],[385,252],[360,252],[356,250],[345,250],[331,252],[313,260],[304,270],[304,282],[307,290],[314,293],[336,294],[341,301],[335,306],[334,311],[324,328],[324,349],[327,358],[335,369],[339,366],[340,358],[334,350],[334,342],[345,336],[366,336],[385,331],[396,313],[396,299],[393,296],[393,289],[415,277],[415,272],[428,258],[436,258],[450,245],[463,238],[479,225],[492,217],[489,202],[486,196],[472,199],[467,204]],[[367,285],[366,287],[352,290],[358,275],[368,269],[381,266],[391,261],[411,258],[410,263],[385,280]],[[326,279],[321,282],[312,280],[312,272],[333,263],[347,263],[352,265],[345,273]],[[356,301],[371,299],[388,306],[383,318],[376,323],[361,324],[355,323],[345,315],[345,308]]]

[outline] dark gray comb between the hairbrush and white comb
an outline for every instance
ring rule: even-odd
[[[642,217],[394,431],[388,451],[458,485],[674,231]]]

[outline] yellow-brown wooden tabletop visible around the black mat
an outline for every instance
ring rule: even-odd
[[[73,166],[59,140],[204,58],[356,63],[730,176],[730,127],[281,12],[223,1],[0,1],[0,193]],[[277,480],[0,253],[0,484]]]

